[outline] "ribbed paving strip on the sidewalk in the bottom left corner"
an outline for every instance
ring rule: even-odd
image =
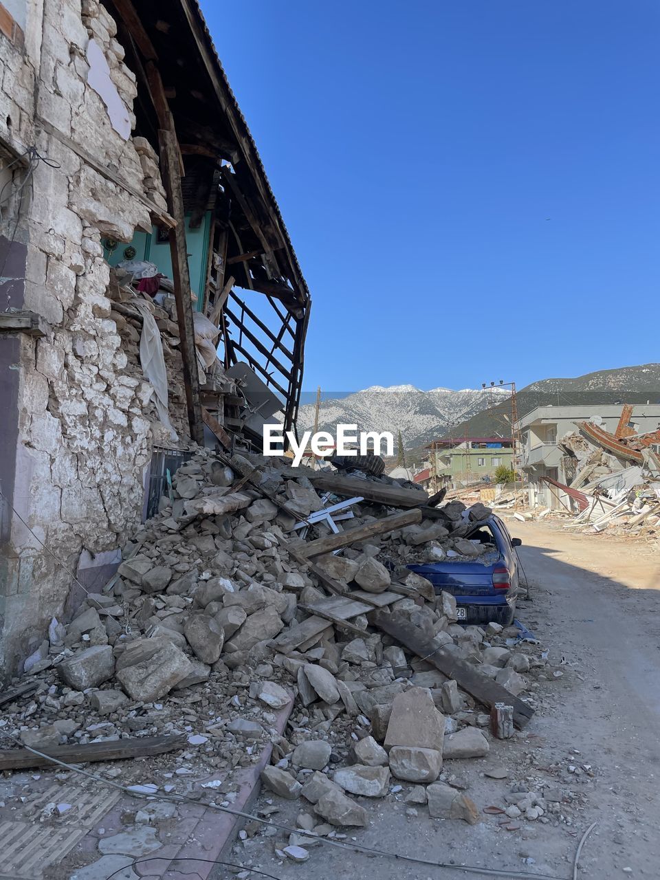
[[[43,869],[61,860],[120,798],[120,792],[98,791],[92,781],[47,788],[31,804],[29,822],[0,822],[0,880],[41,880]],[[61,819],[40,822],[47,803],[70,803]]]

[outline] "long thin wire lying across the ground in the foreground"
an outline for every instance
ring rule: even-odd
[[[193,797],[187,797],[185,795],[166,795],[165,793],[161,794],[160,792],[147,794],[146,792],[132,790],[127,786],[121,785],[119,782],[114,782],[113,780],[106,779],[104,776],[98,776],[97,774],[89,773],[88,771],[83,770],[73,764],[67,764],[65,761],[51,758],[51,756],[46,754],[45,752],[40,752],[38,749],[33,749],[31,746],[21,743],[21,741],[17,737],[13,737],[10,733],[7,733],[4,730],[0,730],[0,736],[11,739],[12,742],[20,745],[28,752],[39,755],[40,758],[51,761],[53,764],[56,764],[58,766],[65,767],[67,770],[71,770],[74,773],[88,776],[90,779],[100,782],[102,785],[111,786],[112,788],[118,788],[125,794],[128,794],[130,796],[148,798],[150,800],[171,801],[172,803],[194,803],[196,806],[200,805],[200,802],[198,800],[195,800]],[[254,816],[252,813],[246,813],[242,810],[231,810],[231,808],[223,807],[217,803],[207,803],[204,805],[210,810],[216,810],[217,812],[221,813],[228,813],[230,816],[235,816],[237,818],[250,819],[250,821],[260,822],[261,825],[268,825],[269,827],[277,828],[280,831],[285,831],[293,834],[302,833],[303,836],[314,837],[314,840],[319,840],[320,843],[323,843],[329,847],[338,847],[339,849],[351,850],[359,853],[385,856],[386,858],[397,859],[400,862],[412,862],[418,865],[426,865],[429,868],[445,868],[449,870],[464,871],[466,874],[480,874],[483,876],[504,877],[509,878],[509,880],[511,877],[521,877],[524,878],[524,880],[562,880],[561,877],[550,874],[534,874],[531,871],[512,871],[501,870],[497,868],[479,868],[476,865],[457,865],[451,862],[433,862],[430,859],[421,859],[415,857],[414,855],[392,853],[385,849],[378,849],[378,847],[364,847],[362,844],[359,843],[346,844],[343,843],[341,840],[329,840],[326,837],[314,836],[312,832],[301,832],[300,828],[293,828],[290,825],[282,825],[282,823],[279,822],[271,822],[268,819],[261,818],[260,816]],[[586,839],[586,834],[584,835],[584,838]],[[277,878],[275,878],[275,880],[277,880]]]

